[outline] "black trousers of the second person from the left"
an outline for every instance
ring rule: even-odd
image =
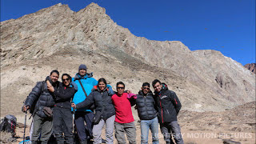
[[[54,107],[54,135],[58,144],[74,143],[73,116],[70,109]],[[64,136],[63,136],[64,134]]]

